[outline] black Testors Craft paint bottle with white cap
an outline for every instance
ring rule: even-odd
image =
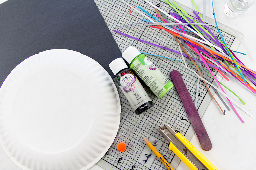
[[[137,115],[145,112],[154,104],[144,90],[132,69],[128,68],[123,58],[117,58],[109,64],[115,81],[123,91]]]

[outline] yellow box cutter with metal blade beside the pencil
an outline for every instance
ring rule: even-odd
[[[169,125],[159,127],[158,132],[170,142],[169,149],[182,160],[189,169],[207,170],[217,168],[204,157],[184,136],[176,133]]]

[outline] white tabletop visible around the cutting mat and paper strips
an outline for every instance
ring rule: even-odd
[[[5,0],[0,0],[0,3]],[[189,8],[195,9],[190,0],[176,0]],[[203,11],[203,0],[194,0],[200,12]],[[223,7],[226,0],[214,0],[214,11],[218,22],[225,24],[243,34],[243,42],[247,46],[246,51],[242,45],[239,46],[237,51],[248,53],[251,55],[238,55],[238,58],[250,69],[256,70],[256,56],[255,56],[255,4],[240,18],[231,19],[224,15]],[[206,1],[206,16],[214,19],[212,15],[211,1]],[[229,77],[230,78],[230,77]],[[212,149],[210,151],[203,151],[194,134],[191,143],[194,145],[208,160],[211,161],[218,169],[256,169],[255,163],[255,94],[251,93],[240,83],[234,79],[227,82],[225,79],[221,81],[224,85],[228,86],[234,91],[246,105],[243,105],[234,95],[227,92],[237,103],[240,103],[244,109],[250,112],[254,117],[251,118],[237,106],[235,109],[245,121],[242,123],[236,116],[236,113],[226,111],[226,115],[222,115],[216,103],[212,100],[208,105],[202,121],[210,136],[212,142]],[[254,87],[254,85],[252,85]],[[214,97],[218,98],[216,94]],[[218,100],[219,101],[219,100]],[[220,102],[218,102],[220,103]],[[222,105],[221,105],[222,106]],[[224,108],[224,106],[222,106]],[[0,148],[0,169],[19,169],[7,157],[2,148]],[[102,169],[98,165],[92,166],[91,169]],[[177,169],[188,169],[188,167],[181,162]]]

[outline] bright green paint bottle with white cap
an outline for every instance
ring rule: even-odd
[[[163,97],[173,87],[173,83],[161,73],[155,64],[135,47],[129,46],[124,50],[122,56],[158,98]]]

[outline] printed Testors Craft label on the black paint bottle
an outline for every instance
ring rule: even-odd
[[[133,71],[130,69],[124,70],[115,77],[115,81],[120,86],[123,94],[128,99],[135,111],[136,109],[144,110],[145,107],[151,107],[148,106],[147,102],[152,103],[152,101],[148,97],[148,94],[140,84],[139,80],[134,75]],[[143,104],[145,104],[145,106]]]

